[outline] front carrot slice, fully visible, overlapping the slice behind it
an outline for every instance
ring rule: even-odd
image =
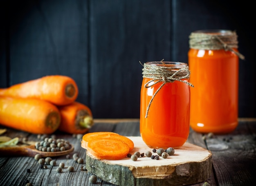
[[[130,147],[119,139],[97,138],[88,142],[87,150],[98,159],[119,160],[127,156]]]

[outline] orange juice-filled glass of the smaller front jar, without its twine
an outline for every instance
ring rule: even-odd
[[[168,66],[172,62],[164,63]],[[178,62],[175,66],[186,67],[187,64]],[[153,83],[157,82],[155,80],[148,83],[152,79],[144,77],[142,80],[140,107],[141,137],[150,148],[166,149],[168,147],[180,147],[189,137],[189,86],[184,82],[173,81],[165,83],[159,89],[163,82],[153,85]],[[188,79],[183,79],[183,81],[187,82]],[[145,87],[146,83],[148,83],[149,87]],[[154,94],[155,96],[150,104]],[[149,104],[150,107],[148,108]]]

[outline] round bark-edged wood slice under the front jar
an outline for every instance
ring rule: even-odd
[[[131,154],[152,152],[141,137],[128,137],[134,142]],[[153,155],[157,153],[152,152]],[[86,152],[86,168],[106,182],[119,186],[171,186],[206,181],[212,170],[212,154],[202,147],[185,143],[175,154],[159,160],[139,157],[121,160],[99,160]]]

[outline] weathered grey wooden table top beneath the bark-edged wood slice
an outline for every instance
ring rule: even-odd
[[[139,119],[94,119],[94,126],[90,132],[111,131],[124,136],[139,136]],[[0,129],[5,128],[0,126]],[[56,166],[47,165],[41,168],[34,157],[10,157],[3,153],[0,157],[0,186],[25,186],[27,182],[33,186],[87,186],[101,185],[114,186],[100,178],[96,184],[89,182],[92,175],[85,166],[72,159],[77,153],[85,160],[86,150],[81,148],[81,138],[72,134],[56,131],[57,138],[66,139],[74,146],[70,159],[66,155],[53,157]],[[28,141],[40,141],[36,134],[29,134],[7,128],[5,135],[9,137],[26,137]],[[214,135],[204,139],[203,134],[190,131],[188,143],[208,149],[212,152],[211,176],[205,180],[213,186],[254,185],[256,182],[256,118],[239,118],[239,125],[230,134]],[[81,137],[81,136],[80,136]],[[60,163],[65,167],[61,173],[56,171]],[[74,172],[67,170],[68,166],[74,167]],[[30,173],[27,172],[30,169]],[[203,182],[193,186],[202,186]]]

